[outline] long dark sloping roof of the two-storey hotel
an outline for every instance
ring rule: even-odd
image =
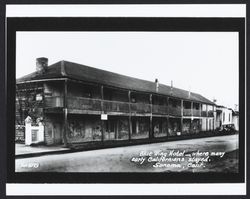
[[[87,82],[94,82],[103,85],[129,89],[134,91],[142,91],[149,93],[158,93],[167,96],[173,96],[186,100],[192,100],[202,102],[206,104],[212,104],[213,102],[200,94],[182,90],[179,88],[159,84],[158,92],[156,92],[155,82],[141,80],[134,77],[128,77],[125,75],[77,64],[68,61],[60,61],[50,65],[45,73],[34,72],[16,80],[18,83],[35,80],[45,80],[54,78],[69,78]]]

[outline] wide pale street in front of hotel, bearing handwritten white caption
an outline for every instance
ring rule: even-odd
[[[16,172],[211,171],[238,171],[238,135],[16,159]]]

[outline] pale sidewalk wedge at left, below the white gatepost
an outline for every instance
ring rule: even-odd
[[[26,146],[25,144],[16,143],[15,156],[16,158],[33,157],[46,154],[60,154],[70,152],[70,148],[60,146]]]

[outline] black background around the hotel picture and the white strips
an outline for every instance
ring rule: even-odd
[[[183,183],[214,183],[214,182],[243,182],[244,181],[244,135],[240,134],[240,173],[239,174],[167,174],[168,176],[163,176],[162,174],[158,175],[156,173],[146,173],[146,174],[127,174],[127,173],[19,173],[16,174],[15,165],[14,165],[14,96],[15,96],[15,34],[16,30],[24,30],[24,31],[42,31],[42,30],[70,30],[70,31],[239,31],[240,32],[240,127],[244,127],[244,119],[242,117],[245,116],[243,112],[245,111],[245,85],[244,85],[244,64],[245,64],[245,30],[244,30],[244,19],[233,19],[233,18],[65,18],[65,20],[58,18],[12,18],[8,21],[8,34],[5,35],[5,30],[7,30],[6,19],[5,19],[5,5],[6,3],[10,4],[66,4],[66,3],[90,3],[91,4],[99,4],[99,3],[107,3],[112,4],[114,1],[104,1],[104,0],[95,0],[95,1],[63,1],[63,0],[24,0],[24,1],[2,1],[0,7],[0,15],[1,15],[1,28],[0,28],[0,124],[1,124],[1,138],[0,139],[0,178],[1,178],[1,187],[0,193],[5,195],[5,183],[172,183],[172,182],[183,182]],[[247,1],[240,0],[179,0],[178,3],[183,4],[209,4],[209,3],[246,3]],[[175,0],[136,0],[136,1],[115,1],[115,3],[151,3],[151,4],[172,4],[177,3]],[[49,20],[52,20],[49,22]],[[79,20],[79,21],[78,21]],[[156,21],[154,21],[156,20]],[[183,20],[185,21],[185,25],[183,25]],[[79,23],[84,24],[84,27],[79,27]],[[249,20],[248,20],[249,21]],[[27,23],[28,22],[28,23]],[[249,23],[249,22],[247,22]],[[105,24],[105,26],[104,26]],[[249,26],[247,26],[248,30]],[[8,36],[8,40],[6,39]],[[6,39],[6,40],[5,40]],[[8,49],[5,48],[5,42],[8,41]],[[248,41],[247,41],[248,42]],[[247,45],[248,46],[248,45]],[[8,53],[8,57],[7,56]],[[247,60],[248,60],[247,56]],[[5,66],[5,61],[8,60],[8,67]],[[7,70],[8,69],[8,70]],[[247,69],[247,77],[249,75],[249,69]],[[247,78],[247,85],[248,85]],[[247,90],[249,87],[247,87]],[[7,93],[8,91],[8,93]],[[249,93],[249,92],[247,92]],[[247,95],[248,99],[248,95]],[[7,103],[8,102],[8,103]],[[8,105],[8,106],[6,106]],[[249,107],[247,107],[247,118],[249,118]],[[248,120],[247,120],[248,121]],[[241,130],[240,130],[241,131]],[[246,138],[249,139],[249,136]],[[248,143],[248,140],[247,140]],[[248,147],[247,147],[247,150]],[[247,159],[248,161],[248,159]],[[249,175],[249,173],[248,173]],[[211,190],[212,192],[212,190]],[[142,198],[138,196],[139,198]],[[138,198],[135,197],[134,198]],[[148,196],[153,198],[153,196]],[[143,196],[143,198],[148,198]],[[162,198],[163,196],[154,196],[154,198]],[[210,198],[215,196],[202,196],[202,198]],[[26,197],[25,197],[26,198]],[[50,197],[52,198],[52,197]],[[62,198],[62,197],[53,197],[53,198]],[[95,197],[97,198],[97,197]],[[99,197],[98,197],[99,198]],[[104,198],[110,198],[110,196],[106,196]],[[118,198],[118,197],[116,197]],[[120,198],[120,197],[119,197]],[[164,198],[166,198],[164,196]],[[201,196],[170,196],[170,198],[201,198]],[[246,196],[218,196],[218,198],[246,198]]]

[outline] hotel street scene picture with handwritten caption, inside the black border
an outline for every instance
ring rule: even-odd
[[[16,172],[237,173],[238,46],[237,32],[17,32]]]

